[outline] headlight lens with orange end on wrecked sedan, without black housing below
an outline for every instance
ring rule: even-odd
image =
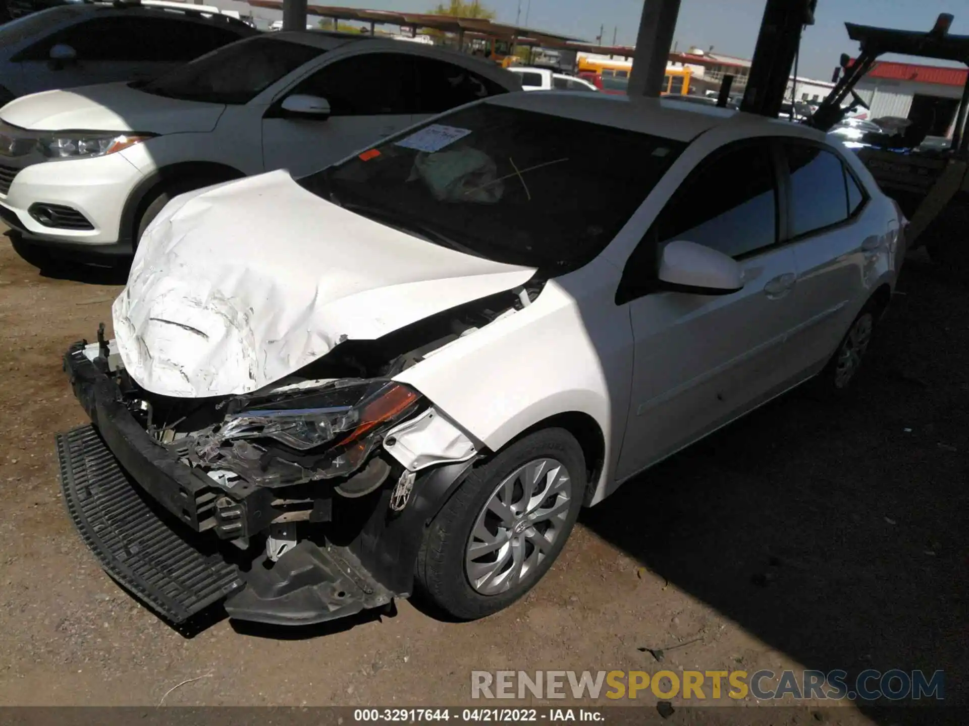
[[[248,408],[226,418],[220,439],[275,439],[305,451],[332,443],[346,445],[381,423],[396,419],[421,395],[393,381],[359,381],[316,394]],[[337,402],[346,401],[343,405]],[[316,404],[314,406],[314,404]]]

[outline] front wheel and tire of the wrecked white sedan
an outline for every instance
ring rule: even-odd
[[[557,428],[519,439],[474,469],[424,532],[422,594],[459,620],[511,605],[562,551],[585,484],[582,449]]]

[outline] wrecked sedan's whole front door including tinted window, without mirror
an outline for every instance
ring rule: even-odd
[[[797,267],[778,247],[784,215],[769,139],[714,151],[686,178],[623,271],[636,339],[633,400],[617,475],[668,456],[783,388],[797,371]],[[687,240],[734,257],[730,295],[657,291],[663,247]],[[642,282],[639,282],[642,281]]]

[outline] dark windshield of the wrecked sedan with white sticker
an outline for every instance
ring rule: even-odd
[[[684,147],[479,104],[299,183],[435,244],[559,274],[610,243]]]

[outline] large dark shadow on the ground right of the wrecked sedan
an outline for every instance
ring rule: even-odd
[[[960,703],[969,290],[920,261],[899,290],[850,395],[802,387],[581,521],[805,668],[943,670]]]

